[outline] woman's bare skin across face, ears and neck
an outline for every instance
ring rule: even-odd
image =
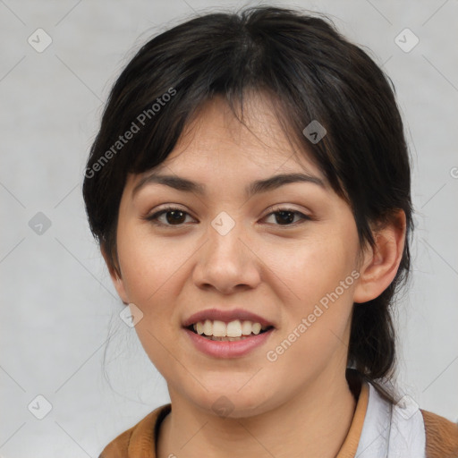
[[[402,257],[403,212],[377,231],[374,249],[361,250],[348,204],[307,152],[293,149],[267,98],[245,103],[250,130],[215,98],[156,169],[204,183],[204,196],[157,183],[133,194],[147,173],[129,175],[117,227],[120,275],[105,256],[121,299],[143,313],[136,331],[172,401],[158,458],[334,457],[355,409],[345,379],[353,302],[382,293]],[[250,182],[291,172],[319,177],[325,186],[293,182],[250,199],[244,194]],[[164,204],[186,212],[181,225],[164,214],[164,226],[145,220]],[[311,219],[296,214],[284,223],[272,213],[278,208]],[[225,235],[211,225],[222,211],[235,224]],[[267,351],[354,271],[359,278],[338,300],[276,361],[267,360]],[[246,356],[209,357],[191,345],[182,321],[211,307],[251,310],[276,329]],[[222,395],[233,409],[227,417],[212,409]]]

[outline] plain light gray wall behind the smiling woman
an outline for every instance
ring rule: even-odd
[[[417,210],[411,290],[397,307],[399,380],[420,407],[456,421],[458,2],[273,4],[328,13],[394,81]],[[108,90],[134,51],[194,11],[215,7],[221,4],[0,0],[4,457],[97,457],[115,435],[169,401],[164,379],[118,316],[123,305],[89,233],[81,178]],[[38,28],[53,40],[42,53],[28,43]],[[394,40],[405,28],[420,39],[408,53]],[[404,46],[411,38],[401,35]],[[41,234],[29,225],[38,212],[51,223]],[[43,420],[28,409],[32,403],[31,411],[44,413],[38,394],[52,404]]]

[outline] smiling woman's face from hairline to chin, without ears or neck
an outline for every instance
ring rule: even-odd
[[[211,412],[225,396],[233,417],[342,377],[359,276],[348,204],[293,149],[267,100],[250,98],[244,114],[250,130],[221,99],[208,102],[165,162],[128,177],[114,276],[123,301],[143,313],[136,331],[172,402]],[[152,172],[200,188],[175,189]],[[306,178],[252,186],[279,174]],[[242,339],[242,350],[183,327],[210,309],[250,312],[269,327]]]

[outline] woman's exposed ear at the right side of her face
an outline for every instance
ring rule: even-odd
[[[364,250],[354,302],[371,301],[391,284],[403,258],[405,234],[403,210],[398,210],[389,223],[374,231],[376,244],[373,248],[368,245]]]

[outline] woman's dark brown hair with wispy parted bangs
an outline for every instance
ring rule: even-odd
[[[398,272],[384,293],[353,306],[348,351],[349,366],[364,377],[389,377],[395,360],[390,307],[410,270],[409,154],[391,81],[328,20],[275,7],[211,13],[141,47],[115,81],[90,150],[83,194],[91,231],[116,268],[127,174],[161,164],[205,101],[221,96],[232,107],[242,105],[248,90],[276,101],[290,137],[310,151],[351,206],[361,246],[374,246],[371,224],[389,221],[398,209],[405,213]],[[314,120],[327,131],[317,143],[302,134]]]

